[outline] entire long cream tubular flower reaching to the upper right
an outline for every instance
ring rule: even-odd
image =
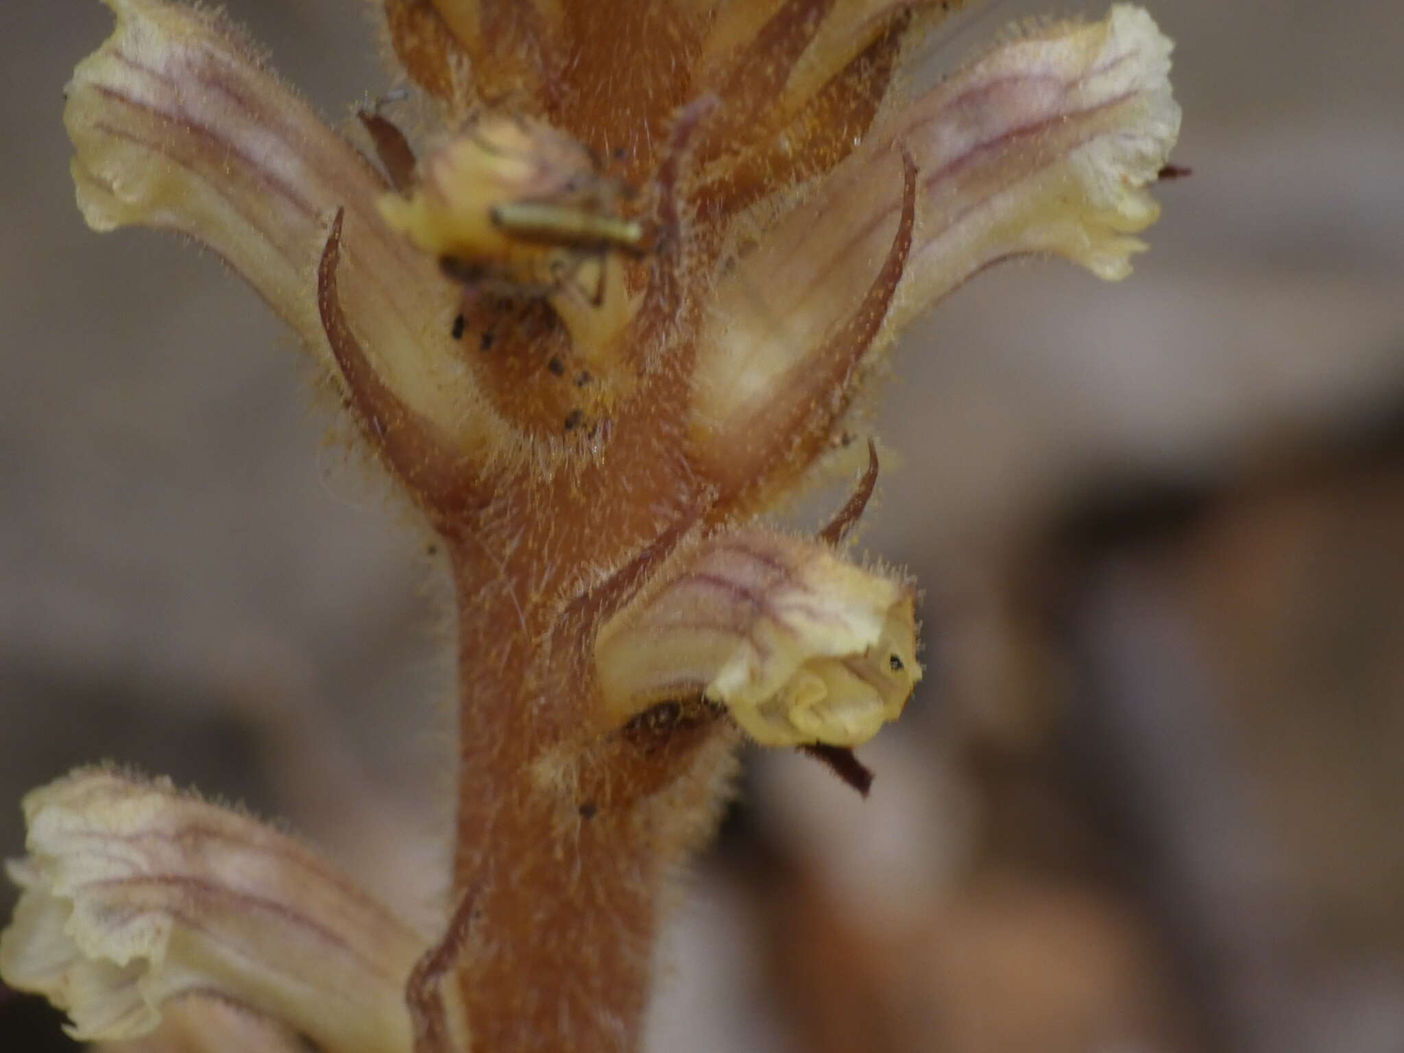
[[[1170,52],[1146,11],[1119,4],[1098,22],[1008,39],[894,110],[719,282],[699,340],[699,446],[764,428],[776,392],[803,382],[807,355],[862,299],[897,227],[903,150],[917,223],[872,351],[998,260],[1050,254],[1129,274],[1144,247],[1134,233],[1158,215],[1146,187],[1179,132]]]

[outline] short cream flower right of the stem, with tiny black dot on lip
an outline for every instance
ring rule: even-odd
[[[908,585],[760,528],[684,548],[595,640],[615,719],[720,703],[761,746],[859,746],[921,668]]]

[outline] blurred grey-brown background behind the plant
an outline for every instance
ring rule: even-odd
[[[1151,7],[1195,174],[1126,284],[1009,267],[900,350],[862,541],[927,680],[868,802],[750,758],[658,1050],[1404,1050],[1404,14]],[[364,4],[229,8],[333,119],[393,87]],[[60,91],[108,25],[0,13],[0,851],[111,757],[425,910],[432,567],[250,292],[83,226]]]

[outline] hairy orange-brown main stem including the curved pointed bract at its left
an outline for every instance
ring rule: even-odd
[[[459,597],[453,896],[470,896],[473,908],[466,932],[451,927],[430,953],[451,952],[473,1040],[486,1049],[632,1049],[663,876],[710,826],[736,733],[716,720],[601,729],[591,642],[628,598],[629,570],[570,608],[562,598],[580,594],[583,567],[626,563],[647,542],[654,559],[665,555],[660,514],[680,526],[699,514],[684,465],[656,456],[678,445],[668,432],[684,388],[675,372],[643,385],[637,403],[651,411],[614,431],[608,470],[458,477],[365,368],[340,312],[338,239],[340,220],[320,268],[333,354],[366,437],[448,543]],[[413,998],[411,1011],[421,1011]]]

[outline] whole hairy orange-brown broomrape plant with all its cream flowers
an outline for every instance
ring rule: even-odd
[[[920,678],[911,585],[840,548],[870,444],[819,536],[757,517],[852,463],[873,364],[974,272],[1129,271],[1170,42],[1116,6],[915,87],[953,4],[386,0],[442,125],[416,159],[362,114],[372,161],[218,15],[105,3],[65,110],[88,223],[243,274],[448,553],[452,900],[418,932],[246,814],[84,769],[24,802],[0,974],[126,1047],[637,1049],[739,743],[862,785]]]

